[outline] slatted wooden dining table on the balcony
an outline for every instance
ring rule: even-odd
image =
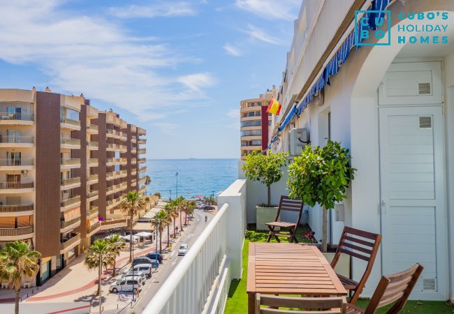
[[[344,286],[316,246],[249,243],[248,313],[256,311],[256,294],[344,296]]]

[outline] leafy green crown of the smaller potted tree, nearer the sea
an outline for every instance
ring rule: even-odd
[[[261,151],[254,151],[246,156],[242,165],[244,175],[249,180],[260,181],[266,186],[278,182],[284,172],[282,167],[288,164],[288,153],[274,154],[268,151],[267,155],[261,154]]]

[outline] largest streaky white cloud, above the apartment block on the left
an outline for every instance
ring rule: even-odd
[[[194,60],[166,43],[131,37],[108,20],[74,15],[59,3],[0,0],[0,59],[36,66],[51,77],[46,83],[53,91],[83,92],[95,107],[96,99],[103,100],[141,121],[205,98],[204,89],[214,84],[210,73],[173,72],[178,63]]]

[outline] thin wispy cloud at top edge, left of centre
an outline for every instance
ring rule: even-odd
[[[195,15],[196,10],[193,8],[191,3],[186,1],[166,1],[150,3],[143,6],[131,4],[129,6],[112,7],[108,9],[108,13],[119,18],[152,18]]]

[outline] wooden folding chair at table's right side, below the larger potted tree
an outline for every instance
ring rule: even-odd
[[[351,304],[355,304],[361,292],[363,292],[367,278],[369,278],[372,267],[374,266],[380,242],[381,234],[374,234],[351,227],[344,227],[342,237],[339,241],[339,246],[337,246],[335,256],[331,262],[331,267],[336,267],[341,253],[350,255],[350,257],[359,258],[360,260],[365,260],[367,262],[367,267],[363,277],[361,277],[358,283],[350,278],[337,274],[337,277],[339,277],[339,280],[342,282],[342,285],[344,285],[346,290],[355,291],[350,300]]]

